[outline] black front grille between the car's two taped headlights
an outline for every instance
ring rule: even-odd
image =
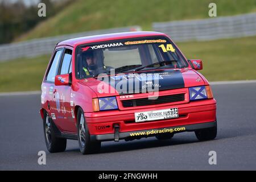
[[[148,105],[155,105],[155,104],[165,104],[170,102],[179,102],[184,101],[185,94],[175,94],[170,96],[159,96],[155,100],[148,100],[148,98],[138,98],[134,100],[124,100],[121,101],[123,107],[136,107],[136,106],[148,106]]]

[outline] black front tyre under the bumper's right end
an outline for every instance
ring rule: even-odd
[[[209,129],[197,130],[195,131],[196,138],[200,141],[213,140],[217,136],[217,121],[216,126]]]

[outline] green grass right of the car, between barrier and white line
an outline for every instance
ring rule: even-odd
[[[203,60],[209,81],[256,80],[256,36],[177,45],[187,59]]]

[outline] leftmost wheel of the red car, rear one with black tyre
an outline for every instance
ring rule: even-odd
[[[49,152],[63,152],[66,150],[67,139],[56,137],[56,134],[53,130],[53,121],[46,111],[44,111],[43,129],[44,139],[46,140],[46,147]]]

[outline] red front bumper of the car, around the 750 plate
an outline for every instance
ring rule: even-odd
[[[173,107],[179,109],[179,118],[135,123],[135,112],[169,109]],[[100,140],[105,140],[104,138],[111,140],[114,136],[114,125],[119,125],[120,138],[125,138],[127,135],[130,135],[129,133],[134,131],[164,129],[176,126],[196,126],[196,124],[207,122],[213,123],[216,121],[216,101],[210,99],[179,105],[152,106],[147,109],[134,108],[133,110],[99,111],[85,113],[85,119],[90,135]],[[195,130],[196,129],[197,128],[195,128]],[[102,137],[100,135],[102,135]],[[103,135],[105,135],[105,137]],[[112,136],[112,138],[110,136]]]

